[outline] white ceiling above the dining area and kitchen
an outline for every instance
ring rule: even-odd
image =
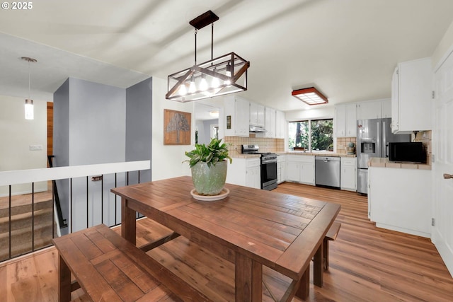
[[[329,105],[390,98],[396,64],[430,57],[453,22],[451,0],[33,1],[0,11],[0,95],[28,97],[28,68],[35,100],[52,100],[68,77],[122,88],[166,79],[194,64],[189,21],[208,10],[219,16],[214,57],[251,62],[240,94],[284,111],[309,108],[291,91],[311,86]],[[210,43],[208,26],[197,62]]]

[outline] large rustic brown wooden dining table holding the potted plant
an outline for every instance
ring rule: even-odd
[[[227,197],[200,201],[188,176],[114,188],[122,199],[122,237],[136,243],[137,212],[234,263],[236,301],[262,301],[263,265],[292,279],[282,301],[322,286],[323,238],[340,205],[226,184]]]

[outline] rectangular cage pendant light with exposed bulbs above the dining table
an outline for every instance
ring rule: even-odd
[[[213,59],[214,22],[219,20],[207,11],[189,22],[195,28],[195,65],[168,76],[168,100],[190,102],[247,90],[247,69],[250,62],[234,52]],[[211,59],[197,64],[197,30],[212,25]]]

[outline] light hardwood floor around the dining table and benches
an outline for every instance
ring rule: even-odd
[[[453,301],[453,279],[430,240],[376,228],[366,197],[289,182],[274,192],[342,206],[324,286],[311,281],[308,301]],[[86,301],[81,290],[73,298]],[[0,264],[0,301],[57,301],[55,248]]]

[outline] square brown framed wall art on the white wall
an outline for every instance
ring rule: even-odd
[[[190,112],[164,109],[164,145],[190,145]]]

